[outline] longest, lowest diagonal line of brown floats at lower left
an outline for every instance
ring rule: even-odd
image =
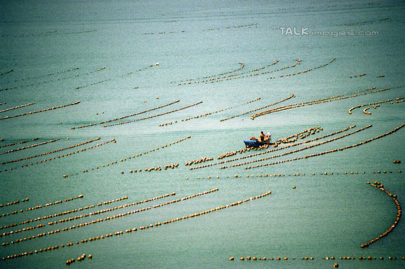
[[[183,216],[181,218],[175,218],[175,219],[167,220],[167,221],[164,221],[164,222],[156,222],[155,224],[148,224],[148,225],[145,225],[145,226],[140,226],[139,228],[138,227],[129,228],[129,229],[125,230],[125,234],[130,234],[130,233],[132,233],[134,231],[138,231],[138,230],[147,230],[147,229],[150,229],[150,228],[153,228],[153,227],[161,226],[162,224],[163,225],[164,224],[171,224],[171,223],[176,223],[176,222],[179,222],[179,221],[182,221],[182,220],[196,218],[196,217],[206,215],[206,214],[210,214],[210,213],[213,213],[213,212],[216,212],[216,211],[220,211],[220,210],[223,210],[223,209],[226,209],[226,208],[229,208],[229,207],[238,206],[238,205],[241,205],[243,203],[253,201],[255,199],[263,198],[263,197],[266,197],[266,196],[268,196],[270,194],[271,194],[271,191],[268,191],[268,192],[266,192],[264,194],[260,194],[260,195],[257,195],[257,196],[246,198],[244,200],[240,200],[240,201],[237,201],[237,202],[234,202],[234,203],[230,203],[228,205],[218,206],[216,208],[212,208],[212,209],[208,209],[208,210],[205,210],[205,211],[190,214],[188,216]],[[124,213],[124,214],[128,214],[128,213]],[[81,242],[82,243],[87,243],[87,242],[97,241],[97,240],[108,238],[108,237],[113,237],[113,235],[119,236],[119,235],[123,235],[123,234],[124,234],[123,231],[116,231],[114,233],[105,234],[105,236],[100,235],[100,236],[96,236],[96,237],[90,237],[89,240],[87,238],[82,239]],[[79,245],[79,244],[80,244],[79,241],[75,242],[75,245]],[[69,242],[69,243],[66,244],[67,247],[73,246],[73,245],[74,245],[73,242]],[[64,248],[64,247],[65,247],[64,244],[60,245],[60,248]],[[28,256],[28,255],[32,255],[34,253],[38,254],[38,253],[42,253],[42,252],[45,252],[45,251],[51,251],[51,250],[56,250],[56,249],[59,249],[59,245],[55,245],[55,246],[51,246],[51,247],[45,247],[44,249],[40,249],[40,250],[35,250],[35,251],[29,251],[29,252],[23,252],[23,253],[9,255],[9,256],[6,256],[6,257],[2,257],[1,260],[5,261],[5,260],[8,260],[8,259],[21,258],[21,257],[25,257],[25,256]]]

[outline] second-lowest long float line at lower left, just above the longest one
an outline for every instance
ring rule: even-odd
[[[51,230],[51,231],[46,232],[46,233],[45,233],[45,232],[44,232],[44,233],[39,233],[39,234],[37,234],[37,236],[35,236],[35,235],[34,235],[34,236],[29,236],[28,238],[31,238],[31,239],[40,238],[40,237],[43,237],[43,236],[46,236],[46,235],[51,235],[51,234],[59,233],[59,232],[61,232],[61,231],[67,231],[67,230],[71,230],[71,229],[86,227],[86,226],[88,226],[88,225],[90,225],[90,224],[97,224],[97,223],[101,223],[101,222],[103,222],[103,221],[111,221],[111,220],[114,220],[114,219],[119,219],[119,218],[121,218],[121,217],[130,216],[130,215],[132,215],[132,214],[144,212],[144,211],[147,211],[147,210],[150,210],[150,209],[155,209],[155,208],[158,208],[158,207],[163,207],[163,206],[166,206],[166,205],[178,203],[178,202],[181,202],[181,201],[184,201],[184,200],[187,200],[187,199],[191,199],[191,198],[198,197],[198,196],[201,196],[201,195],[209,194],[209,193],[212,193],[212,192],[215,192],[215,191],[218,191],[218,188],[211,189],[211,190],[207,190],[207,191],[200,192],[200,193],[193,194],[193,195],[189,195],[189,196],[183,197],[183,198],[181,198],[181,199],[171,200],[171,201],[168,201],[168,202],[164,202],[164,203],[162,203],[162,204],[157,204],[157,205],[154,205],[154,206],[152,206],[152,207],[146,207],[146,208],[142,208],[142,209],[136,209],[136,210],[133,210],[133,211],[129,211],[129,212],[127,212],[127,213],[121,213],[121,214],[117,214],[117,215],[105,217],[105,218],[103,218],[103,219],[93,220],[93,221],[87,222],[87,223],[77,224],[77,225],[73,225],[73,226],[70,226],[70,227],[65,227],[65,228],[62,228],[62,229],[56,229],[56,230],[53,230],[53,231]],[[175,194],[176,194],[175,192],[172,192],[170,195],[175,195]],[[167,197],[167,196],[165,196],[165,197]],[[160,197],[160,198],[163,198],[163,197]],[[135,205],[135,204],[136,204],[136,203],[126,204],[126,205],[122,205],[122,206],[119,206],[119,207],[112,208],[111,210],[122,209],[122,208],[126,208],[126,207],[129,207],[129,206],[133,206],[133,205]],[[109,211],[111,211],[111,210],[98,211],[98,212],[96,212],[94,215],[103,214],[103,213],[109,212]],[[90,213],[90,214],[85,214],[85,215],[83,215],[83,216],[82,216],[82,215],[81,215],[81,216],[76,216],[76,217],[71,218],[71,219],[73,219],[73,220],[74,220],[74,219],[81,219],[81,218],[83,218],[83,217],[89,217],[89,216],[92,216],[92,214]],[[60,222],[60,223],[61,223],[61,222]],[[50,223],[48,223],[48,225],[53,225],[53,224],[57,224],[57,222],[55,221],[55,222],[50,222]],[[142,229],[142,227],[140,227],[139,229]],[[24,239],[25,239],[25,240],[24,240]],[[23,242],[23,241],[26,241],[26,240],[27,240],[27,238],[24,238],[24,239],[16,239],[15,241],[2,243],[2,246],[8,246],[8,245],[10,245],[10,244],[19,243],[19,242]],[[28,239],[28,240],[31,240],[31,239]],[[89,240],[91,241],[91,239],[89,239]],[[81,242],[82,242],[82,243],[85,243],[85,242],[87,242],[87,240],[85,239],[85,240],[82,240]]]

